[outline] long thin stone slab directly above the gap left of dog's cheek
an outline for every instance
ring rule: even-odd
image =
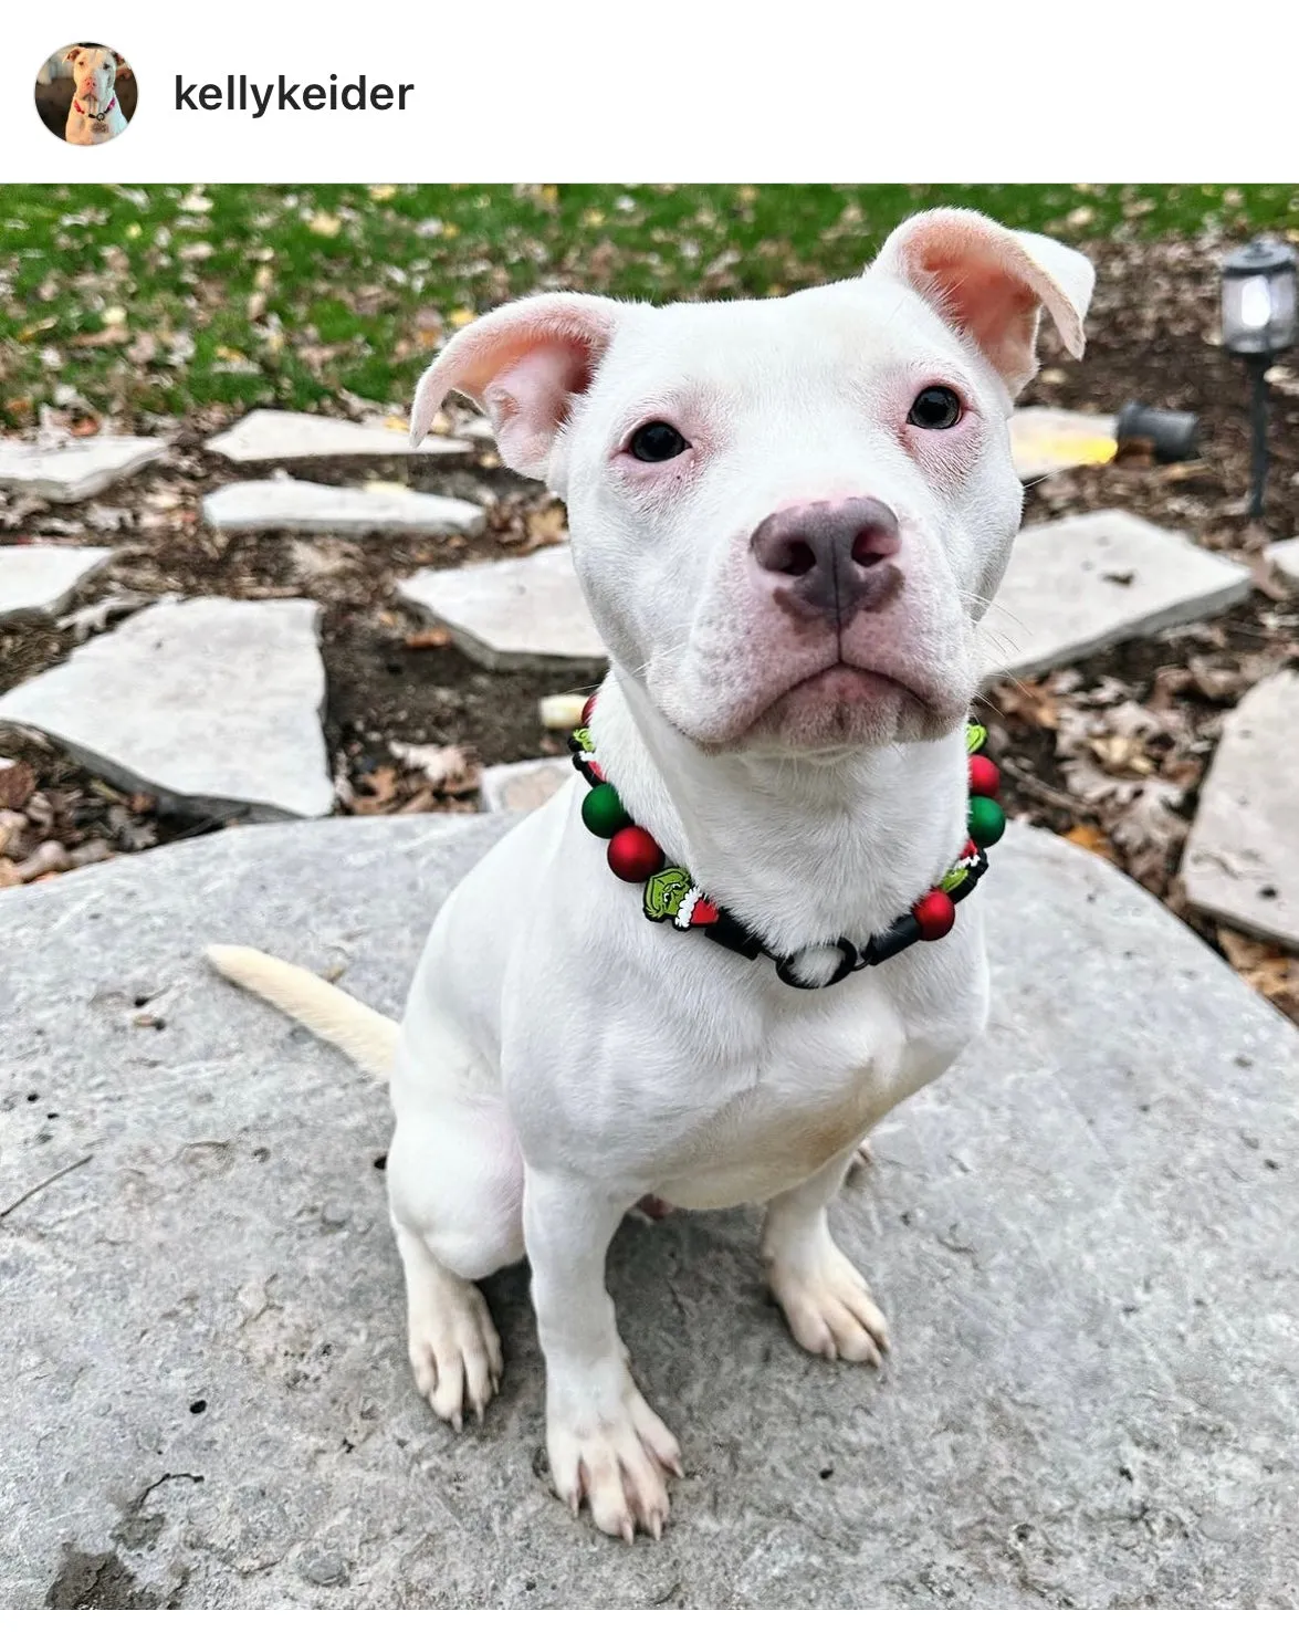
[[[472,537],[486,511],[415,488],[335,488],[325,481],[233,481],[207,493],[202,519],[220,532],[323,532],[362,539],[374,532]]]

